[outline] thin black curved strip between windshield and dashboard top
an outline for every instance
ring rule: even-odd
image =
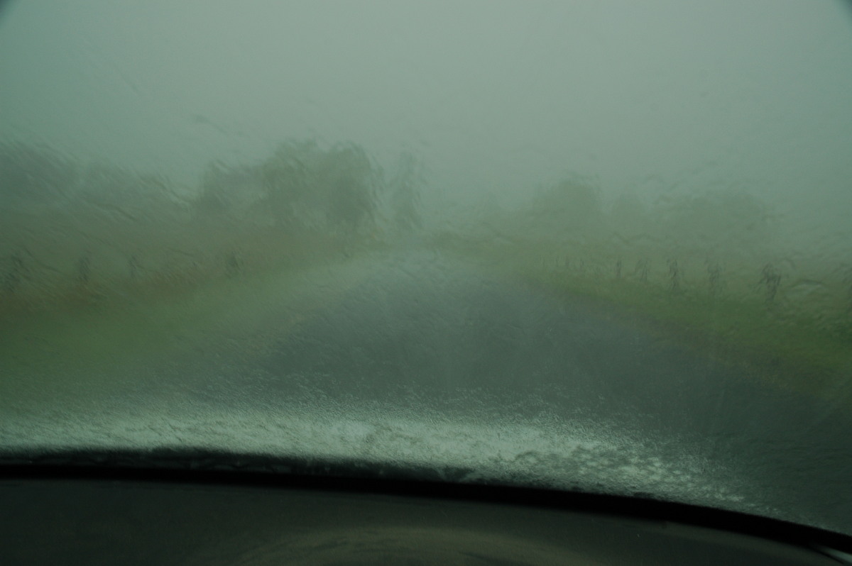
[[[539,507],[682,523],[751,535],[784,544],[852,552],[852,536],[780,519],[653,499],[646,494],[607,495],[504,483],[464,481],[464,471],[423,473],[370,462],[277,459],[266,455],[223,455],[206,451],[56,451],[41,455],[0,454],[0,481],[90,480],[239,486],[256,489],[313,489],[331,492],[463,500],[481,504]]]

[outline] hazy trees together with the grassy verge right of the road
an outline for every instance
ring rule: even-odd
[[[852,375],[848,258],[779,249],[780,219],[747,192],[607,202],[570,177],[470,220],[435,245],[798,389]]]

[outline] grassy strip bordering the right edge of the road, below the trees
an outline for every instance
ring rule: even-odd
[[[596,302],[661,340],[734,361],[775,385],[826,397],[843,391],[852,400],[852,312],[843,281],[833,294],[802,300],[759,265],[730,262],[722,271],[646,251],[446,234],[435,245],[556,297]]]

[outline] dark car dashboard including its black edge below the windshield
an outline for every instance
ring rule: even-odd
[[[4,466],[0,563],[852,563],[843,535],[642,498],[111,458]]]

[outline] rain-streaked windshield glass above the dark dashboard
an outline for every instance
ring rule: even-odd
[[[0,450],[852,534],[850,61],[830,0],[4,3]]]

